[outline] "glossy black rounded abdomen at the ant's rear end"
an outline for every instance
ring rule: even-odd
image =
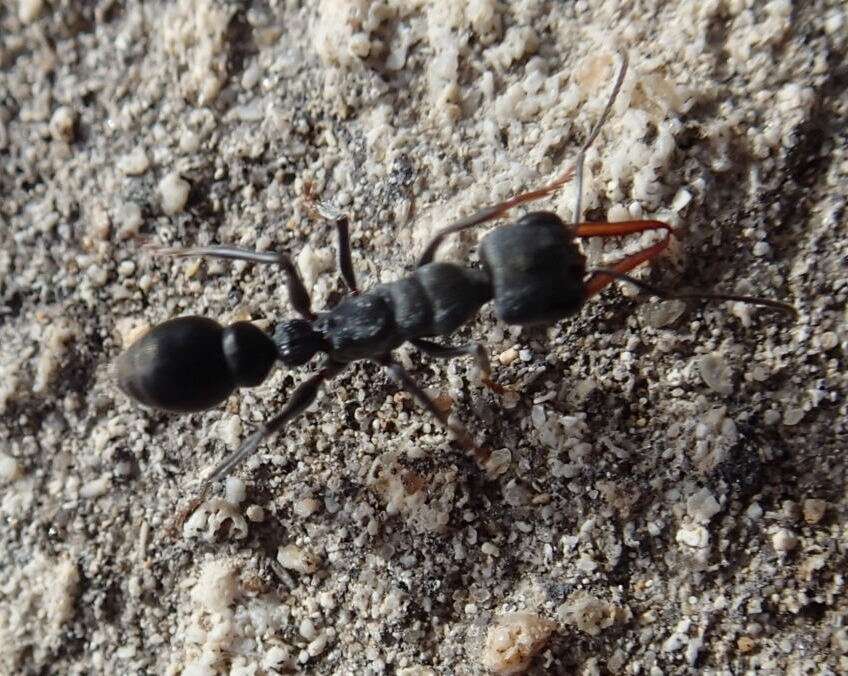
[[[188,413],[219,404],[237,387],[265,380],[274,341],[249,322],[221,326],[178,317],[153,327],[116,362],[118,385],[142,404]]]

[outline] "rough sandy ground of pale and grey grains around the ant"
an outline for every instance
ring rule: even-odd
[[[0,672],[848,671],[844,4],[303,5],[0,3]],[[485,466],[357,365],[181,529],[306,370],[203,414],[129,401],[140,330],[291,314],[277,271],[150,245],[290,251],[326,307],[312,184],[363,285],[395,279],[568,166],[619,50],[588,217],[664,219],[646,279],[797,319],[621,285],[547,331],[486,308],[454,340],[507,394],[399,353]]]

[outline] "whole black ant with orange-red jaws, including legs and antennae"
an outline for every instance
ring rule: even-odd
[[[457,435],[463,447],[477,451],[478,457],[484,459],[485,454],[470,434],[448,421],[447,415],[395,361],[392,350],[409,342],[437,359],[473,357],[483,382],[496,391],[503,391],[489,379],[489,359],[480,343],[445,345],[431,340],[450,335],[490,301],[494,303],[497,317],[507,324],[550,323],[575,314],[604,287],[614,280],[622,280],[659,298],[741,301],[795,313],[792,306],[778,301],[727,294],[672,293],[629,276],[629,271],[655,258],[668,246],[675,232],[666,223],[652,220],[580,222],[586,151],[610,114],[627,65],[627,56],[622,55],[609,100],[574,167],[538,190],[482,209],[440,230],[424,250],[415,270],[403,279],[360,291],[351,259],[347,217],[325,204],[315,204],[314,210],[335,224],[338,267],[350,292],[325,312],[313,312],[309,293],[285,252],[254,252],[228,246],[160,251],[172,256],[209,256],[279,265],[286,276],[289,298],[300,318],[281,322],[273,337],[243,321],[225,327],[213,319],[189,316],[159,324],[117,360],[119,386],[136,401],[168,411],[201,411],[221,403],[239,387],[259,385],[277,360],[294,367],[306,364],[317,353],[325,355],[318,372],[295,389],[282,411],[254,432],[206,478],[202,484],[203,494],[214,482],[253,455],[263,440],[303,413],[325,381],[352,362],[363,359],[385,367],[393,380]],[[481,268],[434,262],[436,251],[449,235],[493,221],[513,207],[549,195],[572,179],[576,181],[577,198],[571,224],[551,212],[527,213],[515,223],[502,225],[483,237],[479,245]],[[623,258],[612,268],[587,268],[586,258],[575,241],[578,237],[618,237],[658,229],[665,230],[663,239]]]

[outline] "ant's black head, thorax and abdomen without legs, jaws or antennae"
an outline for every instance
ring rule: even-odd
[[[493,230],[480,243],[480,260],[481,269],[425,263],[317,315],[309,314],[304,290],[299,306],[308,318],[282,322],[273,338],[246,322],[166,321],[118,358],[119,385],[149,406],[199,411],[237,387],[258,385],[276,360],[300,366],[323,352],[339,367],[379,361],[406,341],[450,335],[489,301],[500,319],[521,325],[561,319],[584,301],[585,260],[555,214],[529,213]]]

